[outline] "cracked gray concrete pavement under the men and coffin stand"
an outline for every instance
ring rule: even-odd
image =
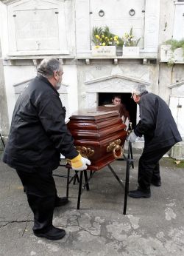
[[[130,189],[137,187],[138,158],[130,170]],[[124,180],[125,161],[113,168]],[[108,168],[96,172],[90,191],[82,193],[77,210],[78,184],[70,185],[66,206],[55,209],[54,225],[66,237],[51,241],[32,234],[33,215],[15,171],[0,162],[1,256],[141,256],[184,255],[184,169],[161,161],[162,186],[152,186],[149,199],[128,198]],[[63,167],[57,170],[66,174]],[[66,178],[55,178],[58,194],[66,195]]]

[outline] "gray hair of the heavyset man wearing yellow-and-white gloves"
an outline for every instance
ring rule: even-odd
[[[54,71],[61,71],[62,65],[56,58],[44,58],[38,66],[38,75],[49,78],[53,75]]]

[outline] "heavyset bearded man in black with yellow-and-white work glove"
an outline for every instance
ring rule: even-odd
[[[33,232],[38,237],[58,240],[65,230],[52,225],[54,207],[68,202],[59,198],[52,170],[60,164],[60,153],[71,160],[75,170],[87,169],[65,124],[66,110],[59,90],[63,75],[60,61],[41,61],[38,75],[19,96],[13,112],[10,135],[3,161],[16,169],[32,212]]]

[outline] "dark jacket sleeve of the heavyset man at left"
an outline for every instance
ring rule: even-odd
[[[46,134],[55,148],[66,158],[78,155],[74,148],[74,139],[65,123],[66,111],[63,109],[59,96],[43,95],[38,101],[38,116]]]

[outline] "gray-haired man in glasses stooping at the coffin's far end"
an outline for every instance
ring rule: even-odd
[[[168,105],[162,98],[138,85],[132,90],[133,100],[140,107],[140,121],[127,138],[134,142],[144,135],[144,150],[138,163],[138,189],[130,198],[150,198],[150,184],[161,186],[159,160],[179,141],[182,141]]]

